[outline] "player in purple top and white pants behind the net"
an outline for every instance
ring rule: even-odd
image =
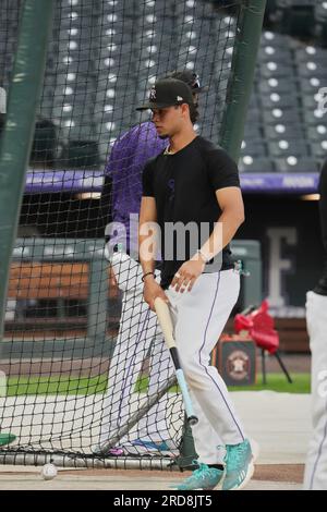
[[[197,94],[205,90],[205,87],[199,86],[198,76],[192,71],[177,71],[171,76],[186,82],[196,101]],[[149,348],[152,357],[148,393],[156,393],[158,386],[172,371],[169,353],[158,330],[157,317],[143,300],[142,268],[137,263],[142,171],[146,161],[160,154],[166,146],[166,138],[158,136],[153,122],[144,122],[132,127],[114,143],[106,168],[101,209],[107,217],[108,205],[112,202],[112,218],[108,218],[108,221],[113,221],[111,229],[116,230],[114,236],[109,236],[107,256],[123,297],[119,334],[110,362],[109,389],[104,403],[99,443],[94,447],[96,453],[104,453],[101,447],[106,446],[110,435],[129,418],[131,397]],[[159,269],[156,269],[156,276],[159,281]],[[141,419],[137,439],[131,443],[123,440],[125,451],[134,453],[145,449],[170,452],[173,444],[166,420],[167,400],[168,397],[164,397]],[[118,447],[110,450],[110,454],[123,454],[123,450]]]

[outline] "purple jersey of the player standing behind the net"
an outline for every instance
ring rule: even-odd
[[[137,225],[133,225],[130,216],[140,212],[143,168],[147,160],[159,155],[167,144],[167,141],[158,137],[154,123],[148,121],[137,124],[116,141],[106,166],[105,174],[110,176],[112,182],[112,220],[124,225],[128,245],[125,248],[133,253],[136,251],[136,254]],[[118,235],[116,242],[124,244],[123,239],[120,240]]]

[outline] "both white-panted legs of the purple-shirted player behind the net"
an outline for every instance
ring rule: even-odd
[[[118,285],[124,294],[120,329],[109,368],[109,387],[104,401],[100,444],[130,417],[131,397],[150,344],[153,357],[149,362],[148,393],[156,393],[172,371],[169,351],[158,329],[157,316],[143,300],[141,265],[124,253],[114,253],[111,265]],[[158,271],[156,275],[159,279]],[[168,394],[140,420],[135,436],[148,440],[169,439],[167,403]],[[121,443],[126,440],[124,437]],[[131,448],[129,450],[134,453]]]

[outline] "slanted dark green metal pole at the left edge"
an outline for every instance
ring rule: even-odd
[[[0,148],[0,340],[9,269],[43,84],[53,0],[25,0]]]

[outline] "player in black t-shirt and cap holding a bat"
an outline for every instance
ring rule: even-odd
[[[226,490],[241,489],[254,471],[251,446],[222,378],[209,366],[240,289],[228,245],[244,220],[238,168],[226,151],[195,133],[192,90],[185,83],[158,81],[149,101],[138,109],[152,109],[158,135],[169,137],[169,146],[143,172],[140,258],[144,298],[152,309],[158,296],[169,303],[199,419],[193,427],[198,468],[177,488],[222,485]],[[157,248],[152,251],[154,231],[162,255],[160,284],[154,267]],[[208,425],[215,436],[208,436]],[[217,439],[226,449],[225,471],[204,459],[207,450],[218,449]]]

